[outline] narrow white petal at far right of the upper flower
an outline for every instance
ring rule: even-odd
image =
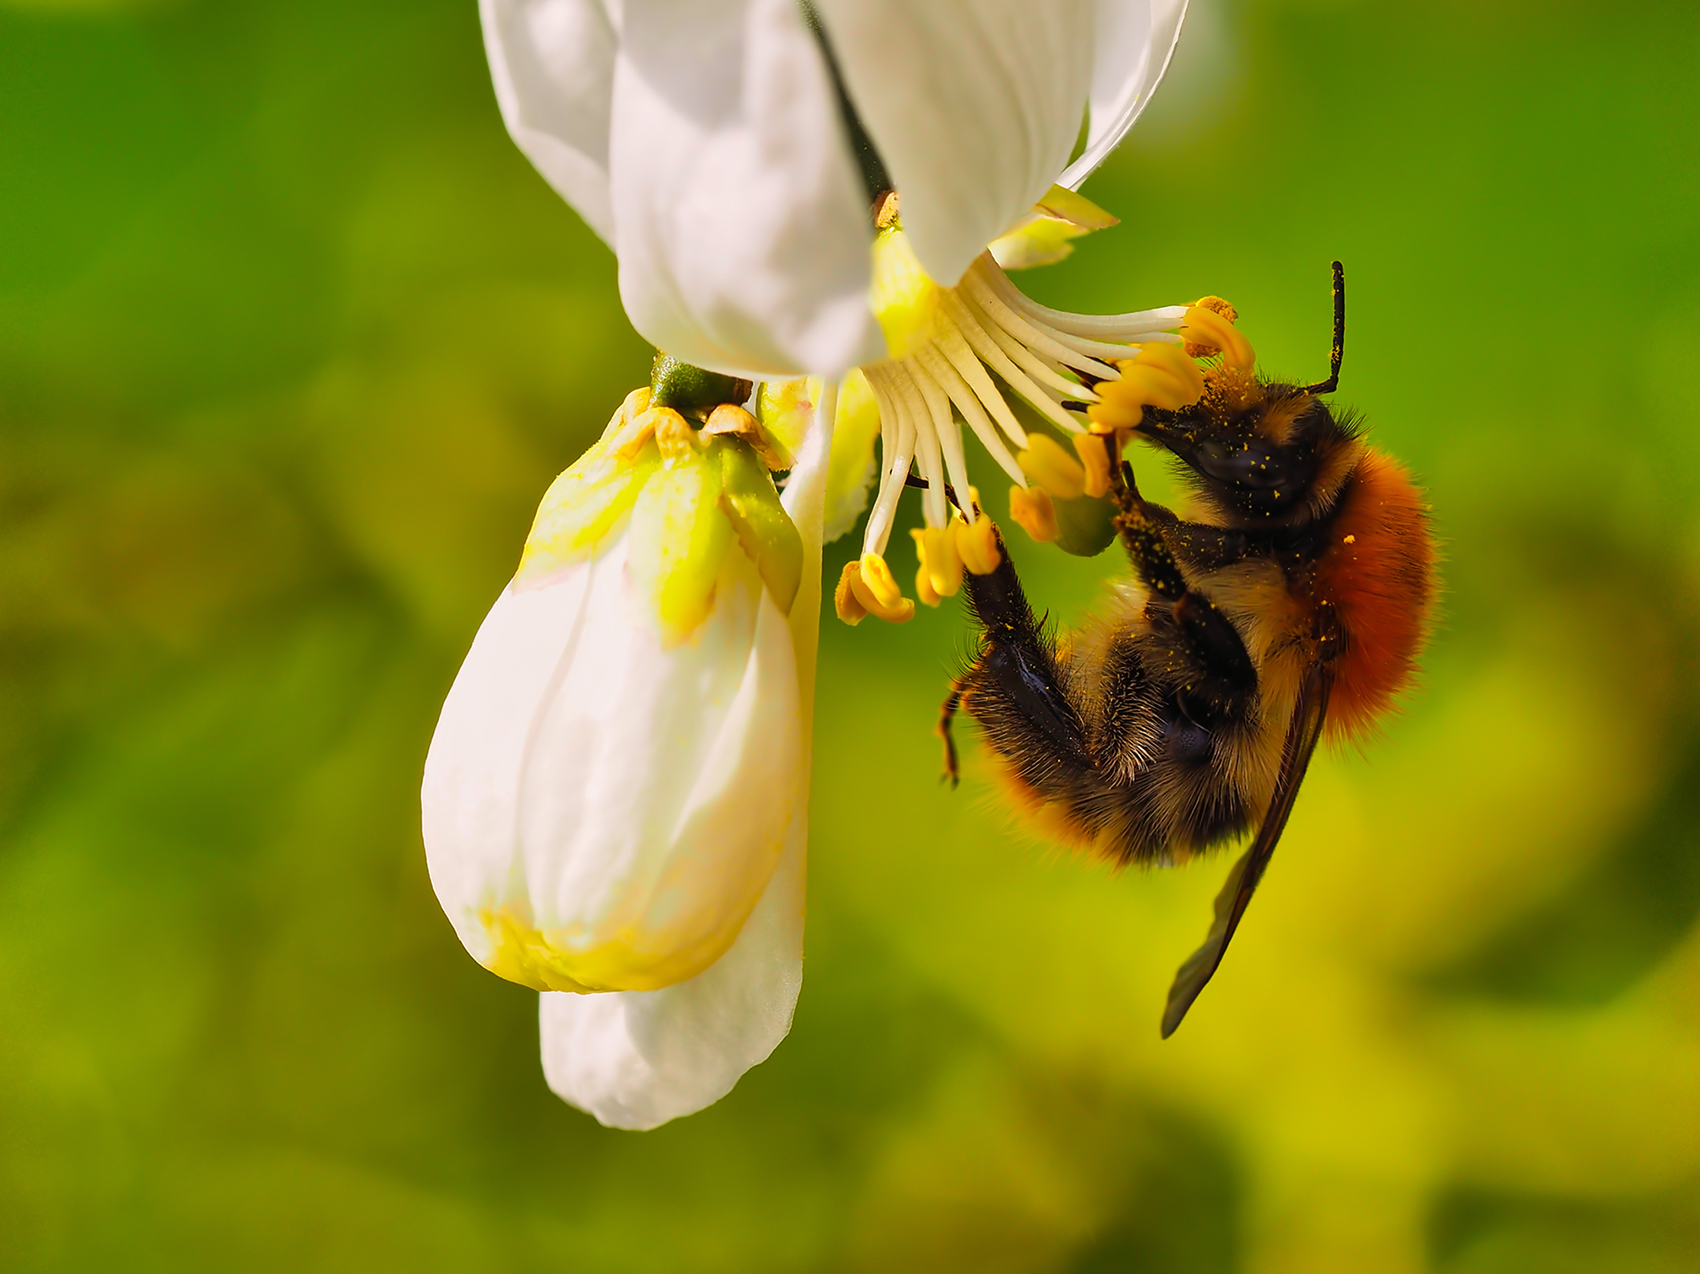
[[[1086,150],[1057,179],[1078,191],[1127,136],[1175,56],[1187,0],[1098,0]]]

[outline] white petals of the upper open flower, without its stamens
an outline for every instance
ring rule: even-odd
[[[847,121],[903,192],[920,265],[955,284],[1120,141],[1185,0],[814,0],[819,39],[797,0],[479,12],[508,131],[615,250],[634,327],[697,366],[836,378],[887,352]]]

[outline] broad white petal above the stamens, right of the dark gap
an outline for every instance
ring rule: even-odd
[[[1093,0],[816,0],[926,272],[955,284],[1080,136]]]

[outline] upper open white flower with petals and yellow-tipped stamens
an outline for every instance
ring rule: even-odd
[[[996,563],[962,425],[1010,476],[1030,534],[1081,553],[1108,543],[1115,456],[1088,422],[1095,386],[1144,364],[1139,395],[1175,400],[1197,373],[1163,347],[1202,335],[1185,332],[1195,311],[1059,313],[1003,269],[1057,260],[1069,238],[1115,223],[1073,187],[1151,99],[1185,9],[481,0],[508,129],[614,247],[639,332],[768,381],[865,374],[847,390],[865,390],[874,427],[840,432],[865,439],[853,464],[877,432],[882,461],[862,558],[838,582],[848,623],[915,612],[886,565],[911,468],[926,486],[921,600]],[[1030,439],[1010,393],[1076,454]]]

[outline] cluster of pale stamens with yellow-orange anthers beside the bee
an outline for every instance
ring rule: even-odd
[[[838,582],[840,619],[903,623],[915,602],[886,563],[898,498],[920,485],[925,527],[913,531],[915,592],[954,595],[962,572],[998,566],[996,532],[967,483],[966,424],[1010,476],[1010,514],[1034,539],[1057,539],[1056,500],[1103,498],[1112,464],[1146,407],[1182,410],[1205,391],[1197,359],[1250,373],[1251,347],[1219,298],[1125,315],[1073,315],[1028,299],[989,253],[960,284],[938,287],[896,226],[876,247],[876,311],[892,357],[864,367],[881,425],[879,493],[862,556]],[[996,379],[994,379],[996,378]],[[1001,386],[1000,386],[1001,381]],[[1013,391],[1073,447],[1027,429]],[[918,469],[918,480],[911,478]]]

